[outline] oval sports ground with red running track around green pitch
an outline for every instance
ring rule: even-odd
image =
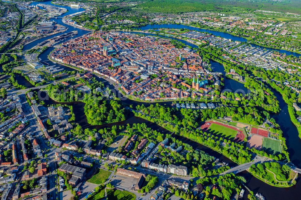
[[[215,121],[206,122],[201,126],[201,129],[203,131],[210,132],[214,135],[219,135],[230,140],[235,140],[237,142],[244,141],[245,138],[245,135],[242,132],[242,130]]]

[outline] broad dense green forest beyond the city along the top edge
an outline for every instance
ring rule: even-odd
[[[137,6],[144,12],[185,13],[200,11],[237,12],[268,10],[276,12],[301,13],[298,0],[284,1],[220,1],[220,0],[149,0]]]

